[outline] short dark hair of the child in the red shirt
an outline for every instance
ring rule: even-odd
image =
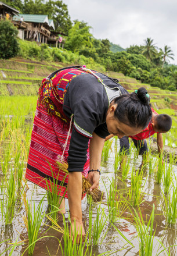
[[[156,128],[159,131],[169,131],[171,129],[172,119],[169,115],[160,114],[156,116]]]

